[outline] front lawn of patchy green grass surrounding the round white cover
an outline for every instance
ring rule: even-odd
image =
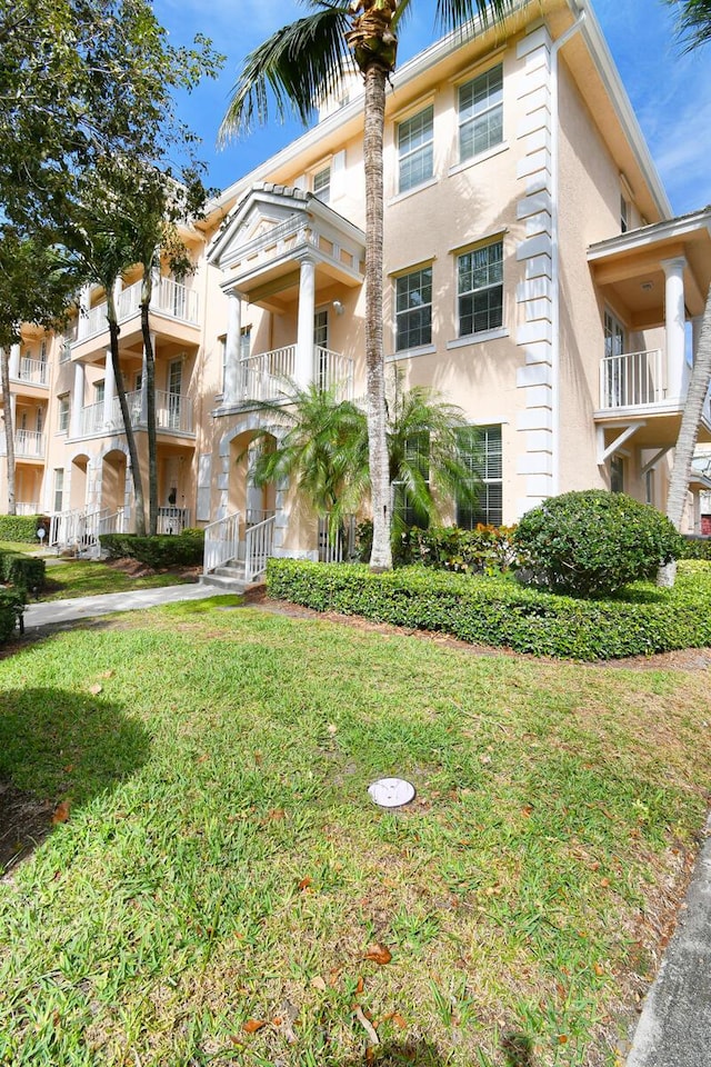
[[[20,642],[0,687],[0,778],[57,824],[0,882],[0,1061],[615,1063],[704,818],[703,671],[217,598]]]

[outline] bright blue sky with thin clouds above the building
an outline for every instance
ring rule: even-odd
[[[179,113],[202,137],[209,183],[223,188],[302,132],[272,122],[219,150],[217,131],[246,54],[286,22],[303,14],[297,0],[154,0],[174,44],[206,33],[227,56],[217,81],[181,98]],[[399,59],[411,58],[438,36],[433,0],[413,4]],[[663,0],[595,0],[594,11],[650,146],[674,212],[711,203],[711,46],[682,56],[673,17]]]

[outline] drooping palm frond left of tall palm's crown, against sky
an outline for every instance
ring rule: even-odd
[[[247,57],[232,88],[219,131],[220,143],[269,119],[270,106],[284,119],[308,123],[318,100],[334,92],[353,62],[346,43],[346,0],[319,0],[316,10],[277,30]]]

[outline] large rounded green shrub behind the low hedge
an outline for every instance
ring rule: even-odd
[[[545,500],[523,516],[513,540],[524,582],[579,597],[651,578],[682,551],[661,511],[603,489]]]

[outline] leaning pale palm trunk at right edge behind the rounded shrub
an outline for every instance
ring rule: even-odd
[[[697,440],[699,439],[701,413],[709,392],[709,385],[711,385],[711,287],[709,287],[707,296],[699,347],[697,352],[694,352],[687,402],[684,405],[681,426],[679,427],[679,437],[677,438],[677,446],[674,448],[674,466],[667,493],[667,517],[673,522],[678,530],[681,529],[681,520],[684,513],[691,463],[693,461]],[[673,565],[671,569],[660,568],[658,584],[660,586],[671,586],[674,584]]]

